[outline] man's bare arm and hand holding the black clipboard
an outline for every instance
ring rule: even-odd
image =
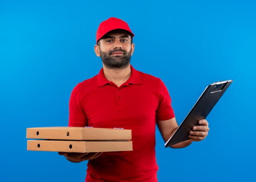
[[[173,135],[173,133],[177,130],[178,124],[175,118],[164,121],[157,121],[157,127],[164,139],[165,142]],[[207,137],[209,131],[207,120],[199,120],[198,125],[195,125],[192,130],[189,132],[189,138],[191,140],[186,140],[184,142],[180,142],[172,145],[172,148],[183,148],[191,144],[193,141],[201,141]]]

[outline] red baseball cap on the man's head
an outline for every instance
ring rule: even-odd
[[[105,20],[101,22],[101,24],[99,24],[99,28],[96,33],[96,42],[98,43],[98,41],[109,31],[116,29],[127,31],[130,34],[130,36],[134,36],[126,22],[124,22],[121,19],[111,17],[108,18],[108,20]]]

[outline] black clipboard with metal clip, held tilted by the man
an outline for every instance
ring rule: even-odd
[[[164,146],[168,147],[179,142],[190,140],[189,131],[191,131],[193,126],[198,124],[199,120],[207,117],[232,82],[233,80],[226,80],[209,84],[200,95],[189,114]]]

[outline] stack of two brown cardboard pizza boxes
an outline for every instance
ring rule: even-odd
[[[132,151],[130,129],[93,127],[27,128],[28,151],[111,152]]]

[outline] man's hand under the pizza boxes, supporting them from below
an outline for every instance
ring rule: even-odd
[[[90,152],[90,153],[69,153],[58,152],[59,155],[64,155],[70,162],[82,162],[84,160],[91,160],[99,157],[103,152]]]

